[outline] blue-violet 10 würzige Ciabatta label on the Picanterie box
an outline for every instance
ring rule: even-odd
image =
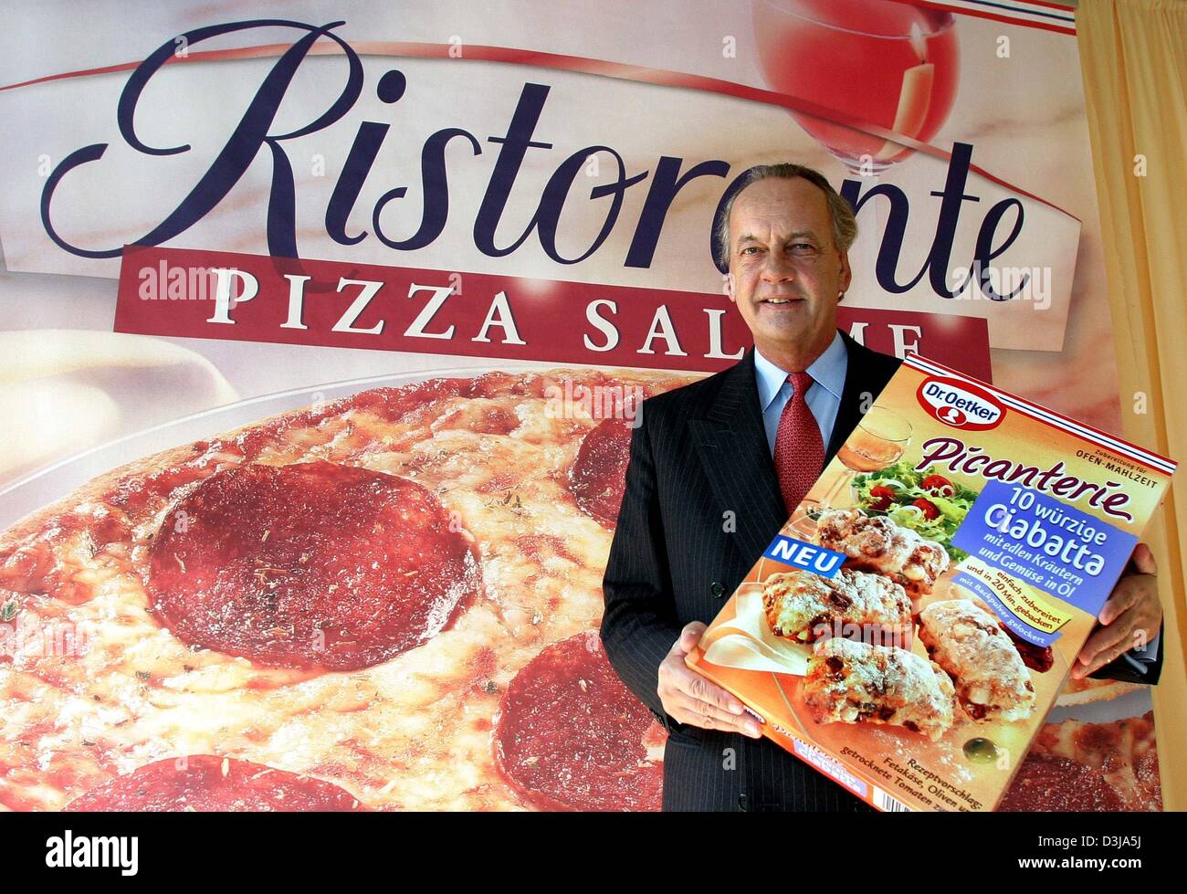
[[[952,545],[990,568],[1097,615],[1125,569],[1137,535],[1033,488],[990,481],[952,538]],[[982,592],[985,588],[973,587],[976,582],[967,573],[958,575],[956,583],[994,604]],[[1037,641],[1032,635],[1027,639]]]

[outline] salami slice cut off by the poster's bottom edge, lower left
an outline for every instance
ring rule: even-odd
[[[82,811],[357,811],[345,788],[262,763],[196,754],[166,757],[75,798]]]

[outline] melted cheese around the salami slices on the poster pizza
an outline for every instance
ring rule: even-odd
[[[616,381],[655,393],[688,380],[622,372]],[[515,427],[485,431],[491,411],[506,410]],[[56,810],[113,775],[209,753],[329,780],[372,809],[521,807],[491,756],[499,702],[544,646],[595,627],[603,605],[611,532],[567,489],[597,421],[572,411],[558,417],[533,397],[449,398],[392,424],[353,408],[287,430],[254,459],[323,458],[408,477],[475,538],[477,603],[424,646],[361,671],[260,667],[161,628],[142,581],[148,539],[173,500],[150,507],[131,549],[93,554],[84,534],[61,539],[63,577],[85,581],[91,598],[23,596],[21,615],[85,632],[85,647],[0,664],[0,805]]]

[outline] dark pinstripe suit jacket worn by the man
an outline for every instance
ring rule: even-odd
[[[849,367],[825,463],[900,364],[842,337]],[[766,737],[678,723],[656,693],[659,665],[680,629],[712,621],[787,520],[754,349],[729,369],[648,399],[641,423],[603,579],[602,640],[623,683],[668,730],[664,809],[871,810]],[[1115,667],[1094,676],[1121,677],[1106,673]]]

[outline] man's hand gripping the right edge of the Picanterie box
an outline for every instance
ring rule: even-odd
[[[1084,643],[1072,677],[1081,679],[1104,667],[1135,646],[1145,646],[1159,633],[1162,605],[1159,603],[1157,566],[1145,544],[1134,550],[1136,572],[1123,575],[1100,609],[1100,621]]]

